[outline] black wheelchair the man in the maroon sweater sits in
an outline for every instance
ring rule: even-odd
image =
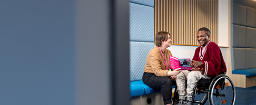
[[[200,79],[193,88],[192,104],[205,104],[207,100],[210,105],[234,104],[235,87],[231,79],[224,74],[211,79]],[[179,101],[177,87],[173,101]]]

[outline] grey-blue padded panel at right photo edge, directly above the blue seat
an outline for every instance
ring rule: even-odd
[[[256,48],[246,48],[247,68],[256,68]]]

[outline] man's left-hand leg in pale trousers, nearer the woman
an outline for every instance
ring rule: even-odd
[[[186,80],[190,71],[184,70],[176,76],[176,85],[178,87],[179,99],[186,99]]]

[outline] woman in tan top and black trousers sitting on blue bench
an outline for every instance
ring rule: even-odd
[[[155,35],[155,47],[146,58],[146,65],[142,77],[143,82],[152,89],[162,90],[164,104],[172,104],[172,85],[175,76],[181,70],[170,69],[169,56],[171,51],[166,49],[171,46],[170,34],[166,31],[158,31]]]

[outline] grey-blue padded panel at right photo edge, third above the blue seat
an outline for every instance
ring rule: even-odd
[[[247,7],[246,26],[256,27],[256,9]]]

